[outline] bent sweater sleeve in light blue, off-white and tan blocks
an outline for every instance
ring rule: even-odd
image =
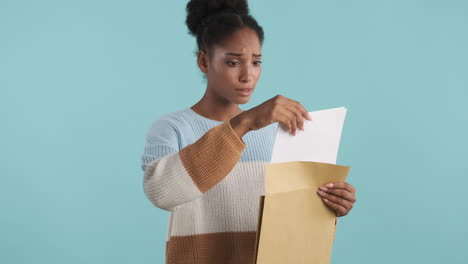
[[[218,184],[239,161],[245,142],[229,121],[208,130],[179,150],[178,131],[157,120],[147,134],[142,155],[143,188],[158,208],[174,211]]]

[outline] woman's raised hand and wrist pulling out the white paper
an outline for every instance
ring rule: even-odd
[[[282,95],[277,95],[262,104],[242,112],[233,119],[231,124],[236,131],[238,124],[244,129],[237,129],[242,137],[251,130],[257,130],[274,122],[279,122],[291,134],[296,135],[296,129],[304,130],[304,118],[312,120],[309,112],[299,103]],[[247,126],[247,129],[245,129]],[[241,125],[242,127],[242,125]]]

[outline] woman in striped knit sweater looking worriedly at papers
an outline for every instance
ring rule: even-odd
[[[246,1],[192,0],[186,24],[207,79],[192,107],[148,131],[142,169],[148,199],[169,215],[166,263],[253,263],[259,197],[277,125],[303,130],[308,111],[277,95],[243,111],[261,74],[263,30]],[[337,216],[355,201],[348,183],[318,194]]]

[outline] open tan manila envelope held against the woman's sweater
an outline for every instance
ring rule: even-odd
[[[330,263],[336,215],[316,190],[344,181],[350,168],[310,161],[267,164],[255,263]]]

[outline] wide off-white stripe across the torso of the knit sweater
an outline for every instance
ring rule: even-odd
[[[199,199],[171,212],[170,236],[228,231],[255,231],[260,195],[265,194],[266,162],[238,162]],[[170,234],[170,235],[169,235]]]

